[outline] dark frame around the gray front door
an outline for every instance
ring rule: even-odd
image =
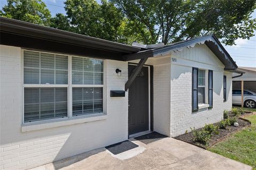
[[[129,62],[128,65],[129,64],[138,65],[138,63],[132,62]],[[148,64],[144,64],[143,66],[150,67],[150,131],[154,131],[154,66]]]

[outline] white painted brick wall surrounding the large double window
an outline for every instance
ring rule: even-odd
[[[110,98],[110,90],[124,90],[127,62],[105,61],[106,120],[21,132],[21,48],[1,45],[0,52],[0,169],[32,168],[127,139],[128,95]]]

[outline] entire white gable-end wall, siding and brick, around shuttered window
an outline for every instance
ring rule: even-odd
[[[171,64],[171,137],[202,128],[222,120],[223,111],[232,106],[231,74],[227,75],[227,101],[223,102],[224,69],[218,58],[205,45],[185,48],[174,54],[178,63]],[[195,63],[197,61],[197,63]],[[192,67],[213,70],[213,108],[192,113]]]

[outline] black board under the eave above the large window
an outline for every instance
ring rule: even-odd
[[[63,43],[52,40],[38,39],[34,37],[25,37],[14,35],[12,33],[1,32],[1,44],[7,46],[17,46],[30,50],[40,50],[50,53],[61,53],[79,56],[91,56],[95,58],[123,60],[122,53],[111,52],[109,50],[95,49],[86,46],[77,46],[74,44]]]

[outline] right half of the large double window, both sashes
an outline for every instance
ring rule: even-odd
[[[103,61],[72,57],[73,116],[103,112]]]

